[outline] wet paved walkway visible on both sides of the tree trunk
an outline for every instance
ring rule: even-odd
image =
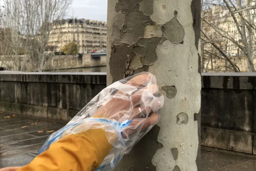
[[[51,132],[64,125],[61,122],[1,113],[0,168],[28,164]],[[203,147],[201,158],[202,171],[256,171],[256,158],[252,155]]]

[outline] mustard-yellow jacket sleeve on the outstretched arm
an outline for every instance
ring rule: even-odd
[[[89,129],[52,143],[17,171],[94,171],[112,148],[104,130]]]

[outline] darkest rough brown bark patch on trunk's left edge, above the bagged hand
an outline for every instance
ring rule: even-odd
[[[127,44],[121,43],[119,46],[113,45],[109,61],[109,67],[111,68],[110,74],[113,78],[113,82],[122,79],[125,72],[125,75],[133,73],[131,70],[127,71],[127,68],[129,62],[134,59],[134,56],[135,54],[128,48]],[[118,72],[115,72],[117,70]]]

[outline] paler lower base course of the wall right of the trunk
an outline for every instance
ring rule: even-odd
[[[201,145],[253,154],[253,134],[201,127]]]

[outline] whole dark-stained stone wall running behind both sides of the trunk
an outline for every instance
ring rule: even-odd
[[[106,73],[0,72],[0,110],[69,121],[106,87]],[[204,73],[202,146],[256,154],[256,73]]]

